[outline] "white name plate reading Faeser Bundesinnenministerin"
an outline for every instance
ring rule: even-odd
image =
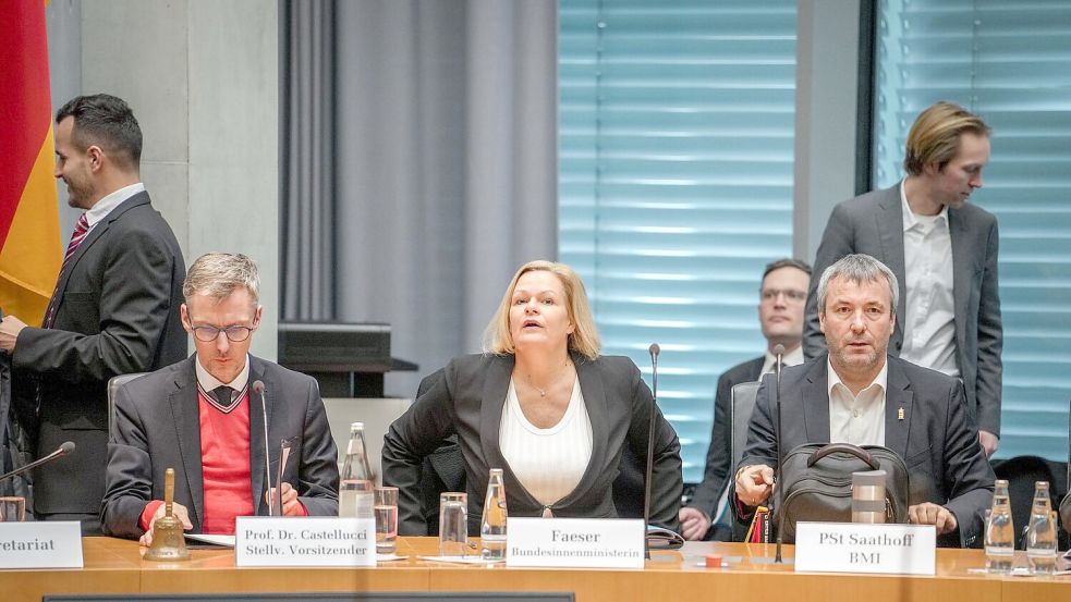
[[[506,566],[643,568],[638,518],[513,518],[507,523]]]

